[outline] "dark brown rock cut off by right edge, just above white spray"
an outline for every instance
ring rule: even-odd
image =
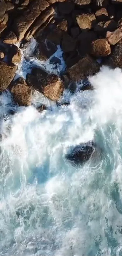
[[[122,68],[122,39],[114,46],[114,49],[105,62],[105,65],[112,68]]]

